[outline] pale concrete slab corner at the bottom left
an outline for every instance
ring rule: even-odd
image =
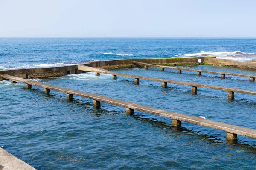
[[[1,170],[35,170],[29,164],[21,161],[11,153],[0,148],[0,169]]]

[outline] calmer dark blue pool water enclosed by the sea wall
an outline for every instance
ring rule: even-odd
[[[196,69],[255,74],[250,69],[199,65]],[[118,73],[198,82],[256,90],[250,77],[160,68],[126,68]],[[256,129],[256,96],[227,91],[95,73],[33,79],[35,81],[113,97],[168,111],[204,116],[219,122]],[[0,82],[1,144],[4,149],[38,170],[43,169],[255,169],[256,139],[238,136],[237,144],[226,143],[226,132],[182,122],[172,127],[172,119],[135,111],[125,116],[125,108],[101,103],[93,108],[91,99],[23,83]]]

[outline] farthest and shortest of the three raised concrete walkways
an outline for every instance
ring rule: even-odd
[[[221,71],[208,71],[208,70],[199,70],[199,69],[192,69],[192,68],[179,68],[179,67],[170,67],[170,66],[163,66],[163,65],[153,65],[153,64],[148,64],[148,63],[143,63],[143,62],[134,62],[135,64],[140,64],[140,65],[148,65],[150,67],[158,67],[158,68],[170,68],[170,69],[177,69],[178,73],[181,73],[181,70],[185,71],[197,71],[198,75],[201,75],[201,73],[212,73],[212,74],[221,74],[221,75],[231,75],[231,76],[240,76],[240,77],[252,77],[255,78],[256,75],[250,75],[250,74],[237,74],[237,73],[227,73],[227,72],[221,72]],[[179,72],[180,70],[180,72]],[[221,76],[222,78],[222,76]],[[224,76],[225,78],[225,76]]]

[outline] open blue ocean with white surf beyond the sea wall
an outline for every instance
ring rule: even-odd
[[[243,54],[235,54],[241,51]],[[0,69],[78,64],[91,60],[214,55],[251,61],[256,39],[0,38]]]

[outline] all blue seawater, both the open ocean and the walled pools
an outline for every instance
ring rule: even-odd
[[[241,51],[243,54],[235,54]],[[249,61],[255,59],[256,39],[0,39],[0,68],[77,64],[89,60],[186,57],[201,54]],[[226,57],[233,55],[234,57]],[[191,68],[254,74],[251,69],[199,65]],[[119,73],[175,79],[256,90],[248,77],[159,68],[127,68]],[[155,108],[204,116],[206,119],[256,129],[256,96],[93,73],[33,79],[52,85],[137,102]],[[22,83],[0,82],[0,145],[38,170],[45,169],[255,169],[256,140],[238,136],[227,144],[226,133],[172,119]]]

